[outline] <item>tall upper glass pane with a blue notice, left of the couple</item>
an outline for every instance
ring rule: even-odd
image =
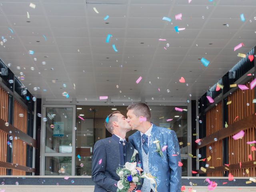
[[[46,108],[46,153],[72,153],[72,108]]]

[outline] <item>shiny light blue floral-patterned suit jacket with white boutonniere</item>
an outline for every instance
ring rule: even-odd
[[[160,147],[168,146],[163,152],[163,157],[156,152],[156,144],[159,140]],[[142,147],[140,132],[137,131],[129,137],[129,142],[139,152],[139,160],[142,162]],[[180,159],[180,146],[176,133],[167,128],[153,124],[149,140],[149,172],[156,177],[156,190],[158,192],[180,192],[181,167],[178,166]],[[173,156],[174,155],[174,156]],[[177,156],[176,156],[177,155]],[[143,169],[143,164],[142,164]],[[155,187],[155,184],[153,185]]]

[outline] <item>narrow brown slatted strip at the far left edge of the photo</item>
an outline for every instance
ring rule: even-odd
[[[0,87],[0,118],[8,122],[8,93]],[[7,134],[0,130],[0,161],[6,162]],[[0,175],[6,175],[6,168],[0,168]]]

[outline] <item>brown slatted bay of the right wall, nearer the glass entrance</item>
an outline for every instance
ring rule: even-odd
[[[219,103],[217,106],[212,108],[206,113],[206,136],[217,132],[222,129],[222,104]],[[212,152],[209,150],[209,146],[212,147]],[[209,166],[217,167],[222,166],[222,140],[214,142],[206,146],[206,158],[211,156],[212,159],[206,163]],[[221,160],[217,160],[221,158]],[[222,176],[222,172],[207,173],[207,176],[218,177]]]

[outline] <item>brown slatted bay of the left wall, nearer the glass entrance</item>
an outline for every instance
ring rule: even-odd
[[[23,114],[20,117],[19,114]],[[27,133],[27,110],[18,103],[14,101],[14,127],[18,128],[20,131]],[[26,166],[26,144],[17,139],[13,139],[13,163]],[[25,171],[13,170],[12,175],[25,175]]]

